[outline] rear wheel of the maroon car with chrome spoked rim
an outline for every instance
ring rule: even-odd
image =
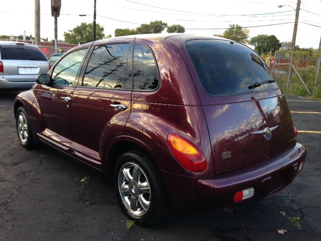
[[[118,201],[125,213],[144,225],[157,223],[168,212],[168,198],[161,175],[144,154],[123,154],[114,169]]]

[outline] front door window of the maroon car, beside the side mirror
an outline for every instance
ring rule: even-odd
[[[63,57],[52,72],[53,84],[76,85],[75,81],[80,74],[81,62],[86,51],[87,49],[80,49]]]

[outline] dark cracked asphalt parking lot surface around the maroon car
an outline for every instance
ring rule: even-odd
[[[320,240],[321,134],[298,134],[308,149],[305,167],[267,200],[240,203],[234,215],[174,210],[162,224],[128,229],[110,180],[45,145],[26,151],[19,144],[17,93],[0,92],[0,240]],[[291,111],[321,112],[321,100],[286,97]],[[321,131],[321,114],[292,118],[298,130]]]

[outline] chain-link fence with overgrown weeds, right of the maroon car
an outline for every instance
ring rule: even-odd
[[[290,74],[290,52],[275,52],[274,56],[263,59],[272,70],[283,92],[321,98],[319,58],[317,55],[294,53]]]

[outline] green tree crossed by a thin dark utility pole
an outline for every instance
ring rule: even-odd
[[[81,23],[79,26],[75,27],[73,30],[68,30],[64,32],[65,41],[71,44],[84,44],[93,41],[94,25]],[[100,27],[96,24],[96,39],[103,39],[104,27]]]

